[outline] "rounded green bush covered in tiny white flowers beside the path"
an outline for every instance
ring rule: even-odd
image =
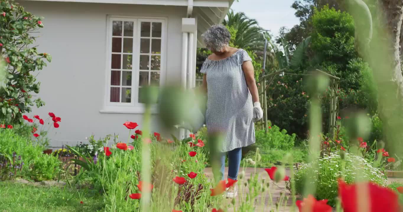
[[[345,159],[342,160],[337,152],[325,155],[314,163],[303,164],[295,167],[295,188],[297,193],[303,194],[306,180],[310,183],[316,183],[315,197],[318,200],[328,199],[328,204],[335,206],[338,196],[337,181],[343,178],[347,183],[353,183],[356,173],[362,173],[364,179],[370,180],[379,185],[384,185],[386,176],[381,169],[372,167],[372,164],[366,159],[344,153]],[[312,173],[312,167],[318,167],[318,170]]]

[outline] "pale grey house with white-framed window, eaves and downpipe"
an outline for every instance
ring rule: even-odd
[[[53,57],[37,77],[46,106],[33,113],[61,117],[52,147],[118,134],[127,120],[141,128],[143,86],[195,86],[200,35],[220,23],[233,0],[21,0],[43,16],[40,52]],[[154,118],[156,118],[154,116]],[[158,131],[156,121],[153,122]]]

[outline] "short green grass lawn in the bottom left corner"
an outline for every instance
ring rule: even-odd
[[[88,194],[87,190],[32,186],[4,181],[0,182],[0,212],[96,212],[102,210],[103,198],[95,198]],[[81,201],[83,204],[80,203]]]

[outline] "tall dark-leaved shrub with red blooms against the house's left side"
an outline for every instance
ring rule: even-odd
[[[38,53],[32,45],[35,37],[32,32],[44,27],[42,18],[25,12],[15,4],[15,0],[0,2],[0,58],[6,61],[2,67],[5,77],[0,81],[0,119],[6,124],[22,122],[22,114],[31,112],[31,106],[45,103],[37,98],[33,100],[32,92],[39,93],[35,71],[46,66],[52,57],[47,53]]]

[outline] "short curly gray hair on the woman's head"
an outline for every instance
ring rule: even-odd
[[[212,51],[220,51],[229,44],[231,33],[221,24],[213,25],[202,34],[204,43]]]

